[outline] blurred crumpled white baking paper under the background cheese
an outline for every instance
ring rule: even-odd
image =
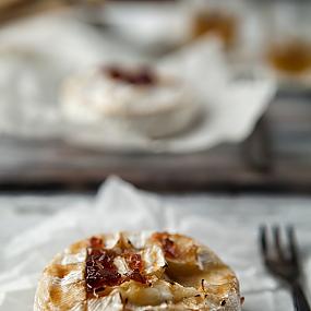
[[[70,144],[121,152],[186,153],[223,142],[241,142],[275,94],[272,79],[259,72],[231,72],[222,46],[202,38],[160,59],[127,46],[109,32],[73,13],[50,14],[0,31],[0,133],[27,139],[63,139]],[[68,124],[60,112],[60,89],[71,73],[111,62],[152,62],[192,86],[203,121],[167,140],[149,140],[103,124]]]

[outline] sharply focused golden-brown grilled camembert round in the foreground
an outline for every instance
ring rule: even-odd
[[[168,232],[79,241],[39,280],[35,311],[241,310],[234,272],[208,248]]]

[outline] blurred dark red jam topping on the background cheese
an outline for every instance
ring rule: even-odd
[[[132,85],[149,86],[156,82],[154,72],[152,72],[148,68],[141,68],[133,71],[125,70],[117,65],[110,65],[104,70],[110,79]]]

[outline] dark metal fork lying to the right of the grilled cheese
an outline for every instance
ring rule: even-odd
[[[282,240],[280,227],[272,227],[268,238],[267,226],[260,228],[260,243],[264,264],[268,272],[284,280],[290,288],[295,310],[310,311],[310,306],[301,286],[301,266],[295,229],[288,226],[285,229],[286,240]],[[272,241],[271,241],[272,240]]]

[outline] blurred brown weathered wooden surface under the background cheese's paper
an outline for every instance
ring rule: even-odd
[[[0,190],[95,189],[109,175],[157,191],[311,192],[311,96],[279,94],[242,144],[124,155],[0,139]]]

